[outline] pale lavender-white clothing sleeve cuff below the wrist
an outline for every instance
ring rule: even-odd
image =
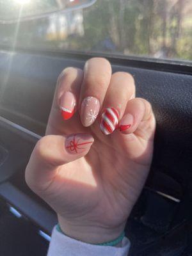
[[[122,246],[100,246],[87,244],[61,234],[54,227],[47,256],[127,256],[130,241],[127,237],[122,240]]]

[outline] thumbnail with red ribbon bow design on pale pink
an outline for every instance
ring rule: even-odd
[[[65,141],[65,148],[70,154],[86,152],[93,144],[94,139],[90,134],[72,134]]]

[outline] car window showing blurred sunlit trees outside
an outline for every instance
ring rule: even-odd
[[[1,24],[0,33],[0,44],[12,47],[191,61],[192,1],[97,0],[81,10]]]

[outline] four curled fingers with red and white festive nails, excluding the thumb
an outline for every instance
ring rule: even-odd
[[[145,120],[151,119],[147,124],[155,124],[154,115],[146,100],[134,96],[134,79],[130,74],[116,72],[111,76],[108,60],[92,58],[86,62],[84,72],[78,68],[62,72],[54,102],[65,120],[79,108],[81,123],[86,127],[95,122],[100,112],[99,126],[104,134],[111,134],[117,127],[124,134],[141,133]]]

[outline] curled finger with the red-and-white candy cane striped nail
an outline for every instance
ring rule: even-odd
[[[134,97],[133,77],[125,72],[116,72],[111,77],[100,118],[100,130],[108,135],[115,131],[118,120],[124,115],[127,101]]]

